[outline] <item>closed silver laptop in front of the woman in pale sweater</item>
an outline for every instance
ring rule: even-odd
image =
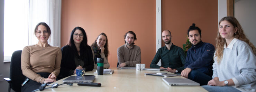
[[[162,80],[171,86],[200,86],[199,83],[194,82],[189,79],[181,79],[181,78],[162,78]]]

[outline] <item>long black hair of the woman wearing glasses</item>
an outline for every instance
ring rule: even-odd
[[[76,47],[75,47],[75,44],[74,44],[74,39],[73,39],[73,34],[75,33],[75,30],[81,30],[82,31],[82,33],[83,33],[83,40],[82,40],[82,42],[81,42],[81,44],[80,44],[80,56],[81,56],[81,59],[84,59],[84,56],[86,56],[86,53],[84,53],[84,51],[85,50],[88,50],[88,49],[86,49],[86,47],[89,47],[90,48],[90,46],[87,44],[87,36],[86,36],[86,33],[85,33],[85,31],[84,31],[84,29],[83,28],[81,28],[81,27],[75,27],[73,30],[72,30],[72,32],[71,32],[71,34],[70,34],[70,39],[69,39],[69,42],[68,42],[68,44],[67,45],[69,45],[73,50],[74,50],[74,54],[75,55],[77,55],[77,56],[79,56],[78,55],[78,52],[77,52],[77,49],[76,49]]]

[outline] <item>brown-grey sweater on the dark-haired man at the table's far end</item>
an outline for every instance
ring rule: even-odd
[[[117,48],[117,60],[119,65],[124,62],[126,66],[135,66],[136,64],[140,64],[141,62],[140,47],[133,45],[129,49],[127,48],[126,44],[120,46],[119,48]]]

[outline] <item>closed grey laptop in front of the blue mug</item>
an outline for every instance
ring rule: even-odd
[[[70,76],[63,80],[64,83],[81,83],[81,82],[93,82],[95,79],[94,75],[84,75],[84,76]]]

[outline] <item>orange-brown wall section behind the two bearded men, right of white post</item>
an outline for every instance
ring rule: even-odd
[[[202,41],[215,46],[218,0],[162,0],[162,30],[171,31],[174,45],[182,47],[186,43],[192,23],[201,29]]]

